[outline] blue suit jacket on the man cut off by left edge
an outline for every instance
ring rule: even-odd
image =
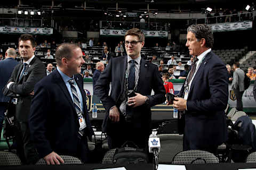
[[[17,64],[18,62],[13,58],[6,58],[5,60],[0,61],[0,102],[7,102],[8,100],[10,100],[10,97],[4,96],[2,89],[4,88],[7,81],[10,79],[12,71]]]

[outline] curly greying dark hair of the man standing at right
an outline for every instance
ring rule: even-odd
[[[187,31],[193,32],[197,41],[204,38],[205,47],[208,47],[208,48],[213,47],[214,38],[213,38],[212,29],[209,25],[206,25],[206,24],[190,25]]]

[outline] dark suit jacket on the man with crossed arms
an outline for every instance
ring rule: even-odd
[[[13,81],[9,89],[5,86],[4,95],[13,94],[19,95],[18,103],[16,106],[15,116],[17,121],[28,122],[28,115],[30,111],[30,103],[33,98],[29,95],[34,90],[35,84],[45,77],[45,65],[37,58],[34,57],[30,64],[27,66],[25,72],[27,75],[23,76],[20,80],[20,73],[23,69],[23,64],[19,63],[13,70],[12,76],[6,85]]]

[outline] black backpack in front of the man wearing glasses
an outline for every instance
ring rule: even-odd
[[[136,148],[124,147],[127,142],[124,143],[122,148],[117,148],[113,163],[114,164],[139,164],[149,163],[148,155],[143,149],[139,149],[134,143]]]

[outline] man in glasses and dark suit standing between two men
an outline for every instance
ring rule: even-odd
[[[151,133],[150,107],[164,102],[165,89],[157,66],[141,58],[144,43],[139,29],[128,30],[127,56],[112,58],[94,87],[107,112],[102,129],[108,135],[109,148],[121,147],[126,141],[145,148]]]

